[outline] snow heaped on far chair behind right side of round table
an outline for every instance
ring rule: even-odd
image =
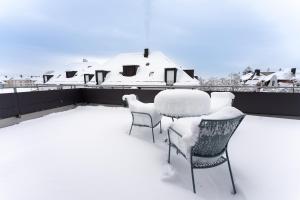
[[[225,106],[231,106],[235,96],[231,92],[212,92],[210,112],[216,112]]]

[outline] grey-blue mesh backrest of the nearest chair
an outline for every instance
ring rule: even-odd
[[[224,153],[229,139],[244,119],[241,115],[226,120],[201,120],[200,131],[191,153],[201,157],[215,157]]]

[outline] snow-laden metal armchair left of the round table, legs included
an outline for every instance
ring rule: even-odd
[[[153,129],[159,125],[160,133],[162,132],[161,115],[155,110],[154,104],[143,103],[137,100],[136,95],[134,94],[124,95],[122,99],[127,102],[132,116],[132,123],[129,131],[129,135],[131,134],[133,126],[149,127],[152,130],[152,139],[154,143],[155,139],[154,139]]]

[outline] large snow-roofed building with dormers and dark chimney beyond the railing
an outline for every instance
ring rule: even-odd
[[[161,52],[122,53],[104,64],[83,60],[68,70],[53,73],[48,84],[88,84],[101,86],[197,86],[193,69],[183,69]]]

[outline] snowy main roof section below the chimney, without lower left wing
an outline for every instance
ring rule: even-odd
[[[135,76],[126,77],[120,72],[123,65],[139,65]],[[198,80],[191,78],[174,61],[162,52],[155,51],[145,58],[142,53],[122,53],[103,64],[103,69],[111,71],[102,85],[166,85],[165,68],[177,69],[175,85],[198,85]],[[95,78],[91,82],[95,82]]]

